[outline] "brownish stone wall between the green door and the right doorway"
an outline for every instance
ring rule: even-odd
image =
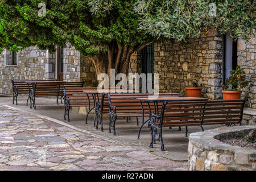
[[[187,43],[168,41],[155,44],[154,73],[159,73],[162,92],[180,92],[193,82],[203,86],[203,96],[222,97],[222,36],[210,29]]]

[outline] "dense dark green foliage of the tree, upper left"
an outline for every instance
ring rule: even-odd
[[[39,16],[39,3],[46,16]],[[106,53],[108,45],[139,46],[154,38],[138,31],[134,1],[118,0],[2,0],[0,48],[37,45],[55,51],[68,42],[83,55]]]

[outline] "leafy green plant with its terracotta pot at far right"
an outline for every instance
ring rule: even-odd
[[[248,85],[245,71],[240,66],[237,66],[236,70],[233,69],[230,74],[231,76],[226,78],[225,85],[223,85],[223,100],[240,99],[241,90]]]

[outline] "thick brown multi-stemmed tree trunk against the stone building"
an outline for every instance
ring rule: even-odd
[[[128,75],[131,54],[140,51],[150,43],[141,46],[119,46],[115,41],[108,45],[107,53],[100,53],[91,57],[97,76],[100,73],[107,73],[110,76],[110,69],[115,69],[115,74],[124,73]]]

